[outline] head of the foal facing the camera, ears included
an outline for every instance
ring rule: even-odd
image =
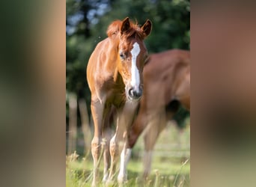
[[[121,74],[127,99],[138,100],[142,96],[143,67],[147,58],[147,49],[143,39],[150,34],[151,22],[147,20],[141,29],[140,37],[134,33],[125,37],[126,31],[131,31],[129,19],[125,19],[121,26],[121,41],[119,43],[119,64],[118,70]],[[138,29],[138,28],[137,28]]]

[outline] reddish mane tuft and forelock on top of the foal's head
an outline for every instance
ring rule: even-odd
[[[121,25],[122,25],[121,20],[116,20],[116,21],[112,22],[109,25],[109,28],[106,32],[108,37],[112,37],[112,38],[116,37],[118,35],[118,33],[120,33],[120,31],[121,31]],[[144,34],[142,33],[141,28],[138,25],[137,21],[135,23],[129,21],[129,25],[130,25],[129,29],[124,32],[122,37],[127,37],[127,38],[135,37],[136,39],[143,40]]]

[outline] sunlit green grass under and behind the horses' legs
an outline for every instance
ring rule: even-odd
[[[189,126],[180,134],[180,131],[175,126],[168,125],[156,143],[150,176],[146,180],[142,180],[143,141],[142,138],[139,138],[132,150],[132,159],[130,159],[127,166],[128,180],[124,186],[189,186],[189,150]],[[73,154],[73,157],[69,156],[67,159],[66,186],[91,186],[93,168],[91,154],[87,154],[85,157],[75,155]],[[103,177],[103,161],[100,164],[100,176]],[[103,186],[103,184],[100,184],[100,186]],[[113,186],[118,185],[114,184]]]

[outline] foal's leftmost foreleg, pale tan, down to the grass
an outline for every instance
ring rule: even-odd
[[[102,140],[103,105],[100,102],[91,102],[91,114],[94,119],[94,138],[91,141],[91,154],[94,159],[94,175],[91,186],[99,183],[100,151]]]

